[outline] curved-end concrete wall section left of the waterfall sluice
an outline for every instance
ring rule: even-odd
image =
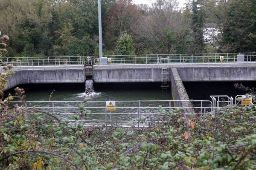
[[[7,82],[7,89],[28,83],[82,83],[84,70],[29,70],[16,71]]]

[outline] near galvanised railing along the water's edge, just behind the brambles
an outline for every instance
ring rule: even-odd
[[[224,97],[227,100],[224,100]],[[164,109],[166,113],[172,109],[181,107],[174,107],[173,102],[193,102],[192,108],[195,110],[194,114],[204,115],[210,114],[212,116],[219,113],[219,110],[225,105],[233,104],[233,98],[229,96],[211,96],[210,100],[130,100],[130,101],[116,101],[116,111],[106,110],[106,101],[87,101],[84,109],[92,110],[85,118],[79,120],[83,122],[85,127],[98,127],[98,126],[122,126],[122,127],[148,127],[159,122],[163,122],[166,114],[158,113],[159,109]],[[218,100],[217,100],[217,99]],[[19,102],[10,102],[10,104],[17,104]],[[222,103],[223,105],[220,105]],[[62,118],[70,118],[77,115],[78,106],[83,104],[83,101],[28,101],[25,107],[30,109],[49,111],[54,113],[54,116]],[[160,105],[162,104],[162,107]],[[95,106],[96,105],[96,106]],[[121,105],[121,106],[118,106]],[[147,106],[144,106],[147,105]],[[63,112],[63,110],[65,110]],[[124,113],[125,111],[125,113]],[[60,113],[58,113],[60,112]],[[42,114],[42,113],[41,113]],[[187,113],[186,113],[187,114]],[[94,118],[93,118],[94,117]],[[145,119],[141,121],[142,119]],[[26,119],[28,116],[26,115]],[[69,121],[72,123],[73,120]],[[128,125],[129,124],[129,125]],[[131,125],[130,125],[131,124]]]

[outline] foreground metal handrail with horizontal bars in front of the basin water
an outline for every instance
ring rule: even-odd
[[[220,97],[220,96],[219,96]],[[228,97],[226,95],[221,95],[221,97]],[[93,100],[89,100],[87,101],[87,103],[98,103],[98,104],[102,104],[102,105],[98,105],[98,106],[90,106],[90,105],[86,105],[84,106],[84,109],[92,109],[93,113],[91,113],[90,115],[94,115],[94,116],[103,116],[105,115],[105,117],[98,117],[97,119],[93,119],[90,118],[86,119],[86,120],[79,120],[81,122],[85,122],[87,123],[84,126],[98,126],[98,125],[102,125],[102,123],[104,123],[104,125],[106,125],[106,127],[112,123],[115,123],[117,125],[117,123],[119,123],[121,126],[124,127],[130,127],[126,124],[124,124],[125,122],[131,122],[131,123],[136,123],[136,125],[138,127],[146,127],[148,126],[147,123],[157,123],[157,122],[164,122],[164,121],[159,121],[159,117],[157,118],[157,116],[164,116],[165,114],[161,114],[161,113],[157,113],[156,109],[159,108],[159,104],[163,103],[163,109],[165,110],[170,110],[170,109],[176,109],[176,108],[192,108],[192,109],[198,109],[198,111],[194,114],[212,114],[214,115],[216,113],[216,111],[219,112],[219,110],[223,107],[220,107],[218,105],[219,102],[223,102],[220,101],[218,99],[218,101],[216,101],[214,96],[211,96],[212,101],[210,100],[117,100],[116,101],[116,111],[107,111],[106,105],[105,105],[105,100],[100,100],[100,101],[93,101]],[[232,104],[231,102],[231,97],[228,97],[229,100],[224,101],[227,102],[229,104]],[[122,103],[129,103],[128,106],[118,106],[121,105]],[[143,102],[152,102],[155,103],[156,106],[150,104],[150,106],[142,106]],[[195,106],[195,107],[173,107],[171,105],[172,102],[199,102],[200,105]],[[10,104],[15,104],[15,103],[20,103],[19,101],[12,101],[9,102]],[[58,115],[63,115],[63,116],[71,116],[75,114],[75,111],[78,110],[77,105],[78,104],[82,104],[84,103],[82,100],[74,100],[74,101],[27,101],[25,102],[25,106],[27,108],[34,108],[34,109],[51,109],[53,112],[52,113],[56,113],[55,111],[61,111],[61,113],[58,113]],[[61,104],[61,105],[60,105]],[[66,105],[63,105],[66,104]],[[71,104],[71,105],[70,105]],[[28,106],[29,105],[29,106]],[[47,106],[48,105],[48,106]],[[131,105],[131,106],[130,106]],[[167,105],[167,106],[166,106]],[[65,111],[67,111],[67,113],[63,113],[63,109],[65,109]],[[70,110],[68,109],[72,109],[72,112],[68,112]],[[94,110],[95,109],[95,110]],[[120,109],[120,110],[119,110]],[[125,112],[125,113],[120,113],[118,111],[123,111],[122,109],[128,109],[129,111]],[[145,110],[147,109],[151,109],[151,112],[146,112]],[[104,113],[105,111],[105,113]],[[144,112],[143,112],[144,111]],[[42,114],[42,113],[39,113]],[[187,113],[186,113],[187,114]],[[120,120],[120,119],[116,119],[113,120],[112,116],[113,115],[131,115],[130,119],[131,120]],[[110,118],[109,118],[110,116]],[[135,117],[134,117],[135,116]],[[145,118],[148,116],[154,116],[153,119],[149,120],[147,119],[146,121],[144,121],[143,123],[140,122],[140,118]],[[156,117],[155,117],[156,116]],[[27,115],[26,115],[27,117]],[[87,117],[88,118],[88,117]],[[27,118],[28,119],[28,118]],[[137,120],[134,120],[137,119]],[[69,120],[71,123],[73,122],[73,120]]]

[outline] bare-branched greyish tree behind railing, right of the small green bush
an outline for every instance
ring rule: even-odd
[[[194,50],[191,19],[177,10],[176,0],[157,0],[148,15],[133,26],[140,54],[187,53]]]

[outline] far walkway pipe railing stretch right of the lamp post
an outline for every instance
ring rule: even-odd
[[[250,63],[256,62],[256,54],[248,54],[244,55],[244,62],[237,61],[237,55],[227,55],[224,56],[224,60],[221,61],[221,55],[186,55],[186,56],[171,56],[171,55],[140,55],[140,56],[108,56],[108,59],[111,59],[111,62],[108,65],[138,65],[138,64],[151,64],[151,65],[159,65],[159,64],[168,64],[168,65],[201,65],[204,64],[230,64],[230,66],[236,66],[236,64],[247,64],[249,66]],[[99,58],[94,58],[94,64],[100,65]],[[96,67],[97,68],[97,67]]]

